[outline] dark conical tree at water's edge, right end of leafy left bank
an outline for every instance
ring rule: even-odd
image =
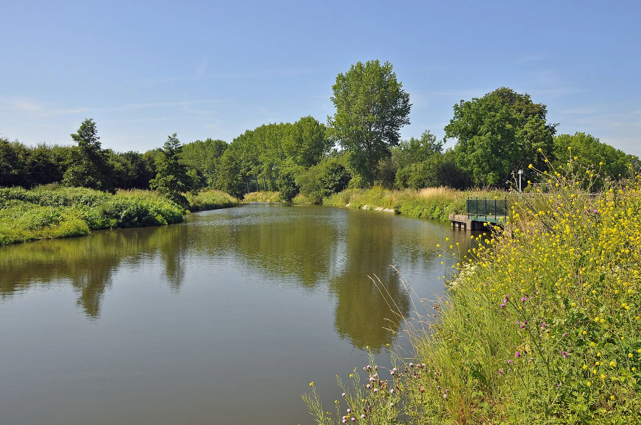
[[[177,134],[167,136],[165,145],[156,158],[156,178],[149,186],[179,205],[187,205],[186,193],[194,185],[193,179],[187,174],[187,166],[181,163],[182,146]]]

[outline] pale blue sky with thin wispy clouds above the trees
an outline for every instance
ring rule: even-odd
[[[0,135],[104,147],[235,136],[333,113],[331,85],[388,60],[438,136],[460,99],[528,92],[563,133],[641,155],[640,2],[0,1]]]

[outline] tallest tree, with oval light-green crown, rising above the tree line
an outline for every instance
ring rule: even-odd
[[[392,72],[378,60],[352,65],[332,87],[336,113],[328,116],[331,140],[349,152],[350,166],[374,184],[378,161],[399,143],[400,129],[410,124],[412,104]]]

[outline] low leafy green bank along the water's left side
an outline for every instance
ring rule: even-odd
[[[191,211],[237,205],[226,193],[192,196]],[[115,195],[58,185],[0,189],[0,245],[84,236],[91,230],[159,226],[183,221],[185,209],[153,191],[118,191]]]

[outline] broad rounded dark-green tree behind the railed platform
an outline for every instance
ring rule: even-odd
[[[535,179],[528,165],[542,168],[553,150],[555,125],[545,122],[546,108],[527,93],[502,87],[455,104],[445,138],[458,139],[457,162],[475,184],[503,186],[519,169],[526,180]]]

